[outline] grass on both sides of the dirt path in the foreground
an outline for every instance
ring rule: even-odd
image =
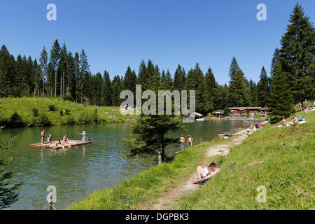
[[[146,169],[113,188],[97,190],[67,209],[138,209],[188,180],[197,165],[210,160],[221,168],[233,162],[237,166],[223,169],[194,193],[181,197],[173,209],[314,209],[315,112],[297,116],[307,118],[307,123],[277,128],[267,124],[225,158],[204,156],[223,139],[194,146],[171,162]],[[248,166],[251,162],[263,163]],[[266,203],[255,200],[258,186],[267,189]]]

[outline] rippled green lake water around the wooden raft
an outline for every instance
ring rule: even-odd
[[[237,127],[246,127],[242,120],[207,121],[183,124],[186,130],[173,133],[190,134],[193,144],[214,139],[219,133]],[[45,209],[48,186],[57,188],[57,209],[80,200],[97,189],[115,184],[141,172],[152,165],[152,158],[127,157],[130,149],[122,140],[132,132],[132,124],[102,124],[45,127],[46,137],[52,132],[52,140],[62,139],[67,134],[69,139],[80,139],[77,132],[87,131],[92,144],[77,146],[65,153],[49,149],[30,148],[29,144],[41,141],[43,128],[7,129],[1,132],[1,141],[18,135],[18,141],[8,151],[0,151],[0,158],[13,158],[6,170],[15,171],[14,182],[22,181],[20,200],[12,209]],[[169,147],[169,155],[179,151],[179,146]],[[1,167],[3,168],[3,167]]]

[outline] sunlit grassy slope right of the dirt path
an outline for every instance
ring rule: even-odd
[[[307,123],[277,128],[268,124],[232,148],[222,167],[232,162],[237,166],[181,197],[174,209],[314,209],[315,113],[297,116]],[[267,190],[266,203],[255,200],[258,186]]]

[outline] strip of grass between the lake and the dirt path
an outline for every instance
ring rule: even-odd
[[[154,202],[158,195],[165,193],[179,180],[188,179],[195,171],[196,165],[204,158],[209,144],[217,144],[219,141],[221,139],[214,139],[207,144],[189,148],[176,155],[171,162],[146,169],[113,188],[97,190],[67,209],[137,209],[144,202]]]

